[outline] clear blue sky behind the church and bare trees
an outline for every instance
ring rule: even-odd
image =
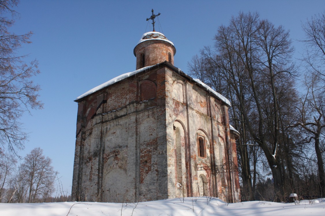
[[[20,18],[11,28],[32,31],[32,44],[19,54],[37,59],[41,74],[34,77],[42,90],[44,109],[21,119],[29,141],[21,156],[35,147],[52,158],[65,190],[71,192],[77,103],[89,89],[135,70],[133,49],[141,35],[152,30],[146,21],[154,13],[155,29],[176,47],[175,66],[187,73],[187,63],[203,46],[213,45],[218,26],[228,25],[240,11],[259,12],[261,18],[290,30],[295,57],[304,37],[301,24],[324,12],[325,1],[21,1]]]

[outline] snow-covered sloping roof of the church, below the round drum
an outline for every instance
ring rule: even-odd
[[[161,63],[159,63],[159,64],[161,64]],[[103,83],[103,84],[101,84],[101,85],[96,86],[95,88],[90,89],[89,91],[87,91],[87,92],[85,92],[84,94],[82,94],[82,95],[80,95],[79,97],[77,97],[76,100],[79,100],[79,99],[81,99],[81,98],[83,98],[83,97],[86,97],[86,96],[88,96],[88,95],[90,95],[90,94],[92,94],[92,93],[94,93],[94,92],[96,92],[96,91],[98,91],[98,90],[100,90],[100,89],[103,89],[103,88],[105,88],[105,87],[107,87],[107,86],[109,86],[109,85],[112,85],[112,84],[114,84],[114,83],[116,83],[116,82],[118,82],[118,81],[121,81],[121,80],[123,80],[123,79],[125,79],[125,78],[127,78],[127,77],[129,77],[129,76],[132,76],[132,75],[134,75],[134,74],[140,73],[140,72],[142,72],[142,71],[144,71],[144,70],[147,70],[147,69],[152,68],[152,67],[154,67],[154,66],[156,66],[156,65],[159,65],[159,64],[155,64],[155,65],[151,65],[151,66],[143,67],[143,68],[140,68],[140,69],[138,69],[138,70],[136,70],[136,71],[132,71],[132,72],[129,72],[129,73],[126,73],[126,74],[119,75],[119,76],[117,76],[117,77],[115,77],[115,78],[113,78],[113,79],[107,81],[106,83]],[[173,66],[173,67],[174,67],[174,66]],[[179,70],[179,69],[178,69],[178,70]],[[184,72],[182,72],[182,71],[180,71],[180,70],[179,70],[179,72],[185,74]],[[188,76],[187,74],[185,74],[185,75]],[[188,76],[188,77],[189,77],[190,79],[193,79],[193,78],[191,78],[190,76]],[[197,84],[201,85],[203,88],[205,88],[205,90],[207,90],[208,92],[210,92],[211,94],[213,94],[215,97],[217,97],[217,98],[219,98],[220,100],[222,100],[223,102],[225,102],[227,105],[231,106],[231,105],[230,105],[230,101],[229,101],[226,97],[224,97],[224,96],[222,96],[221,94],[219,94],[218,92],[214,91],[212,88],[210,88],[209,86],[207,86],[206,84],[204,84],[203,82],[201,82],[201,80],[199,80],[199,79],[193,79],[193,81],[196,82]],[[234,130],[235,130],[235,129],[234,129]],[[236,131],[236,130],[235,130],[235,131]],[[237,131],[237,132],[238,132],[238,131]]]

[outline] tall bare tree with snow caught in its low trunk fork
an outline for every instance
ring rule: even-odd
[[[284,169],[282,167],[284,167],[283,161],[285,158],[280,157],[279,153],[286,145],[288,145],[288,139],[284,139],[286,136],[283,129],[286,127],[280,127],[281,118],[287,117],[286,113],[285,115],[281,115],[281,113],[284,112],[284,109],[281,110],[280,106],[287,107],[286,104],[288,99],[294,104],[294,100],[290,100],[290,98],[286,97],[286,95],[288,95],[288,90],[291,92],[291,98],[294,97],[294,95],[297,95],[295,90],[293,90],[293,86],[287,82],[287,80],[291,80],[294,83],[294,80],[290,79],[290,75],[295,75],[294,65],[291,63],[293,47],[291,46],[291,40],[289,39],[289,31],[284,30],[282,26],[277,28],[274,27],[274,25],[268,20],[261,20],[259,22],[258,31],[255,37],[255,43],[259,50],[257,62],[261,73],[266,73],[263,74],[263,77],[267,78],[267,82],[269,84],[266,91],[270,91],[272,93],[272,96],[265,103],[266,106],[262,108],[265,113],[264,117],[259,117],[265,119],[266,124],[264,127],[267,131],[270,131],[269,135],[267,135],[269,136],[268,142],[270,144],[266,147],[260,143],[260,146],[265,152],[267,161],[272,170],[274,184],[277,185],[275,188],[283,190],[285,179],[283,175]],[[281,92],[282,94],[286,94],[281,95]],[[266,92],[262,94],[262,97],[266,94]],[[286,101],[282,100],[280,103],[279,100],[281,97],[286,97]],[[268,108],[270,107],[268,105],[270,102],[273,102],[273,106]],[[292,105],[292,103],[289,104],[289,106]],[[265,132],[263,133],[265,134]],[[261,137],[261,135],[262,134],[259,131],[259,137]],[[272,151],[272,154],[268,154],[268,149]],[[292,169],[292,165],[289,165],[288,169],[290,171]],[[277,175],[274,175],[275,173],[277,173]],[[284,195],[284,191],[281,192],[281,194]]]

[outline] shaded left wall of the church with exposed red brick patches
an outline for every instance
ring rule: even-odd
[[[78,102],[76,200],[167,198],[164,76],[137,74]]]

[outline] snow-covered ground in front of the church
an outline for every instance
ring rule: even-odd
[[[70,212],[69,212],[70,210]],[[325,215],[325,199],[303,200],[299,204],[251,201],[225,203],[217,198],[166,199],[139,203],[57,202],[0,203],[1,216],[191,216]]]

